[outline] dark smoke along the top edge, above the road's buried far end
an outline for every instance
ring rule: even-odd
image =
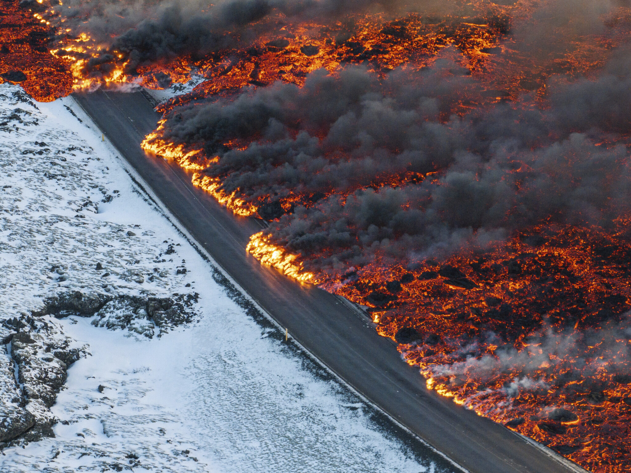
[[[423,8],[444,9],[433,0],[419,4]],[[115,63],[125,62],[126,73],[133,74],[139,66],[182,55],[201,58],[221,49],[242,47],[257,36],[248,26],[272,13],[280,13],[288,21],[330,21],[374,8],[402,13],[408,7],[402,8],[396,0],[223,0],[213,5],[201,0],[71,0],[64,4],[61,15],[66,20],[64,28],[70,26],[75,33],[89,33],[105,45],[100,57],[91,59],[85,68],[86,73],[98,75],[108,73]]]

